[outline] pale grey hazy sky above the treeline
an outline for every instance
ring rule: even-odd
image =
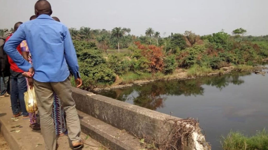
[[[0,0],[0,28],[28,21],[36,0]],[[211,34],[244,28],[248,35],[268,34],[268,0],[50,0],[53,14],[68,27],[111,30],[131,28],[144,35],[148,27],[165,36],[191,30]]]

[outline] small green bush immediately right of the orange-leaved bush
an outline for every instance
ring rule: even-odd
[[[164,58],[164,67],[162,72],[164,74],[173,73],[176,69],[176,59],[175,55],[170,55]]]

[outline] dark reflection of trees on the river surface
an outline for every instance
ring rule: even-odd
[[[222,76],[203,77],[191,80],[153,82],[143,86],[111,90],[100,94],[120,101],[133,100],[135,105],[156,110],[159,107],[163,107],[163,100],[166,100],[165,96],[203,95],[204,88],[202,85],[204,84],[215,86],[221,90],[230,83],[235,85],[243,84],[244,81],[241,80],[240,77],[246,75],[250,75],[250,73],[232,73]]]

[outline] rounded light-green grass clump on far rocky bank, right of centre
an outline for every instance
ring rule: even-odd
[[[209,73],[213,72],[211,68],[208,67],[200,67],[199,65],[193,65],[187,72],[188,77],[196,77],[200,75],[207,75]]]

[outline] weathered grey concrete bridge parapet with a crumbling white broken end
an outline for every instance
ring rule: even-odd
[[[118,129],[125,129],[130,134],[142,137],[160,138],[163,134],[170,130],[170,124],[165,124],[168,119],[180,118],[159,113],[153,110],[142,108],[126,102],[118,101],[109,97],[96,95],[85,90],[73,88],[73,98],[76,101],[76,108],[84,113],[87,113],[97,119],[104,121]],[[159,135],[161,133],[161,135]],[[195,132],[196,135],[190,136],[194,139],[196,136],[204,138],[200,130]],[[188,140],[189,141],[189,140]],[[196,148],[202,147],[196,145],[196,141],[190,140],[192,143],[187,149],[207,149]]]

